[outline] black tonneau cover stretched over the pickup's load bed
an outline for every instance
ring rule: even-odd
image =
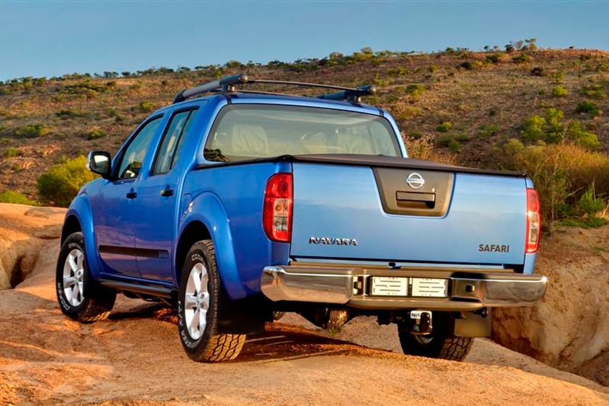
[[[301,163],[317,163],[317,164],[333,164],[333,165],[349,165],[349,166],[373,166],[373,167],[388,167],[388,168],[405,168],[415,170],[437,170],[440,172],[458,172],[458,173],[474,173],[476,175],[495,175],[506,177],[526,178],[525,172],[493,170],[493,169],[477,169],[463,166],[454,166],[441,164],[431,161],[423,161],[423,159],[401,158],[398,156],[385,155],[357,155],[357,154],[317,154],[317,155],[281,155],[272,158],[255,158],[246,159],[244,161],[234,161],[222,163],[222,165],[236,165],[247,163],[260,162],[301,162]],[[208,165],[199,166],[209,167]]]

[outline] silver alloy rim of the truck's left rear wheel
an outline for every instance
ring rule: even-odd
[[[201,262],[195,264],[186,283],[184,298],[184,318],[186,330],[193,340],[199,340],[207,324],[209,309],[209,276],[207,268]]]

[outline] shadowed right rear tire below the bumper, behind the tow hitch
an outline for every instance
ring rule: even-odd
[[[398,324],[402,351],[407,355],[462,361],[470,352],[474,339],[455,337],[453,325],[450,315],[437,312],[432,314],[433,329],[429,336],[414,335],[403,323]]]

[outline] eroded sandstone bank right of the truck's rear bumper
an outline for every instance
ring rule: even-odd
[[[594,360],[609,353],[608,250],[609,227],[563,229],[544,242],[536,272],[549,280],[546,296],[537,306],[494,309],[493,340],[606,381],[609,366]]]

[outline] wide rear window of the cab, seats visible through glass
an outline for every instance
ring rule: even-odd
[[[401,156],[387,119],[315,107],[229,105],[205,144],[208,161],[324,153]]]

